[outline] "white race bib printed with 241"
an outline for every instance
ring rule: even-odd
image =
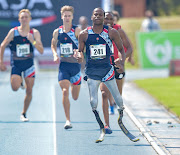
[[[104,59],[106,58],[106,45],[91,45],[90,46],[90,57],[91,59]]]

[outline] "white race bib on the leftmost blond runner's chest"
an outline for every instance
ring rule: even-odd
[[[16,45],[17,57],[25,57],[30,54],[29,44],[17,44]]]

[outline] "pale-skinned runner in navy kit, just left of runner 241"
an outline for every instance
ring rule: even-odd
[[[63,25],[54,30],[51,42],[55,62],[59,62],[57,44],[60,48],[58,81],[63,93],[62,103],[66,116],[65,129],[72,128],[70,122],[69,88],[71,86],[72,97],[74,100],[77,100],[81,84],[81,65],[73,57],[74,49],[78,48],[78,35],[81,29],[72,25],[73,13],[74,8],[72,6],[63,6],[61,8]]]

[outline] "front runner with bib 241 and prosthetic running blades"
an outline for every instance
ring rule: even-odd
[[[123,116],[123,100],[118,91],[114,79],[114,67],[110,64],[110,55],[112,40],[115,42],[118,50],[121,52],[122,59],[115,60],[118,72],[124,71],[125,53],[122,40],[117,30],[103,25],[104,10],[95,8],[92,13],[92,27],[83,30],[79,35],[79,52],[77,54],[78,62],[83,61],[83,51],[86,46],[86,75],[90,94],[90,104],[95,114],[96,120],[100,126],[100,138],[96,142],[101,142],[105,136],[104,124],[97,111],[98,105],[98,87],[103,82],[112,93],[119,107],[120,119]]]

